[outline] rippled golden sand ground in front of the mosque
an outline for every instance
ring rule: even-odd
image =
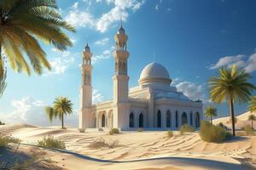
[[[64,169],[249,169],[244,163],[256,165],[256,137],[236,137],[226,143],[206,143],[198,133],[166,136],[166,132],[107,132],[79,133],[77,129],[33,127],[26,124],[0,126],[0,133],[12,135],[24,144],[36,144],[38,139],[52,135],[65,142],[67,150],[45,150]],[[89,144],[97,139],[109,143],[118,141],[114,148],[92,149]],[[19,150],[33,148],[20,145]],[[1,157],[0,157],[1,159]],[[239,160],[239,161],[238,161]],[[1,161],[1,160],[0,160]],[[241,165],[241,162],[243,164]],[[253,168],[252,168],[253,169]],[[256,167],[255,167],[256,169]]]

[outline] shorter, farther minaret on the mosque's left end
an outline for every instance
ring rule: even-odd
[[[94,117],[91,114],[92,86],[91,86],[91,56],[90,47],[86,44],[82,61],[82,86],[80,89],[79,128],[94,127]]]

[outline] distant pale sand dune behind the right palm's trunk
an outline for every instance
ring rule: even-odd
[[[240,116],[236,116],[236,119],[237,119],[236,129],[241,129],[241,127],[245,127],[246,125],[251,125],[251,122],[247,120],[248,116],[250,115],[256,116],[256,112],[252,113],[250,111],[247,111],[245,113],[242,113]],[[230,116],[221,117],[221,118],[212,120],[213,124],[218,124],[220,122],[224,123],[226,127],[231,128],[232,126],[230,123]],[[253,123],[253,128],[256,129],[256,122]]]

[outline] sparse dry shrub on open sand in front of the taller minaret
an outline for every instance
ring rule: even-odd
[[[110,140],[109,142],[105,139],[96,139],[92,143],[89,144],[90,148],[100,149],[100,148],[115,148],[119,146],[119,140]]]

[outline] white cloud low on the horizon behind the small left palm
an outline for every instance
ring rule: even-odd
[[[0,113],[0,118],[4,122],[24,122],[37,126],[61,125],[59,120],[50,123],[45,113],[46,104],[32,96],[26,96],[22,99],[14,99],[10,104],[13,111],[9,113]],[[73,115],[65,117],[65,125],[77,127],[78,113],[74,111]]]

